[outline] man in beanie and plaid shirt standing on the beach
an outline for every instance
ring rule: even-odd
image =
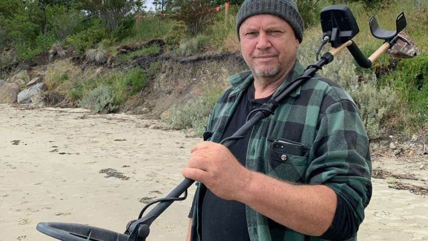
[[[188,240],[357,240],[371,197],[368,140],[352,98],[320,76],[230,150],[217,144],[303,73],[303,21],[292,0],[245,0],[237,14],[251,72],[230,77],[185,177],[199,181]]]

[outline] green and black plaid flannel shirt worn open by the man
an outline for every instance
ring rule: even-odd
[[[303,73],[296,62],[280,89]],[[209,119],[209,141],[219,142],[226,123],[245,88],[252,84],[251,72],[231,76],[231,86],[219,97]],[[245,118],[245,117],[243,117]],[[205,136],[205,134],[204,134]],[[301,152],[277,151],[273,142],[286,140],[303,144]],[[286,155],[286,160],[282,159]],[[250,136],[246,167],[269,176],[304,184],[324,184],[345,200],[360,224],[371,198],[371,161],[368,139],[357,106],[335,82],[316,75],[285,98],[274,115],[258,122]],[[192,241],[200,241],[202,201],[207,187],[197,183],[193,210]],[[326,241],[282,227],[246,206],[251,241]],[[336,239],[342,237],[337,234]],[[341,238],[339,238],[340,240]],[[347,241],[356,241],[354,234]]]

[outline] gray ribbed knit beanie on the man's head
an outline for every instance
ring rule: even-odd
[[[253,15],[272,14],[284,19],[294,30],[296,38],[303,40],[304,24],[294,0],[245,0],[236,15],[236,32],[239,38],[239,27]]]

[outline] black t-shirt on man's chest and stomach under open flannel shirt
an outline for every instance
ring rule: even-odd
[[[254,99],[254,85],[250,85],[242,96],[226,129],[224,138],[233,135],[245,124],[248,114],[267,102],[271,96]],[[251,132],[239,139],[229,150],[245,166],[247,147]],[[250,241],[247,228],[245,204],[224,200],[207,190],[202,203],[202,240],[203,241]],[[194,200],[195,201],[195,200]],[[192,205],[193,206],[193,205]],[[193,207],[192,207],[193,210]],[[191,211],[192,214],[192,211]],[[190,214],[190,217],[192,217]]]

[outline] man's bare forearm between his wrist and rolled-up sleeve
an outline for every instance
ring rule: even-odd
[[[324,185],[293,185],[251,172],[237,201],[294,231],[320,236],[333,221],[337,196]]]

